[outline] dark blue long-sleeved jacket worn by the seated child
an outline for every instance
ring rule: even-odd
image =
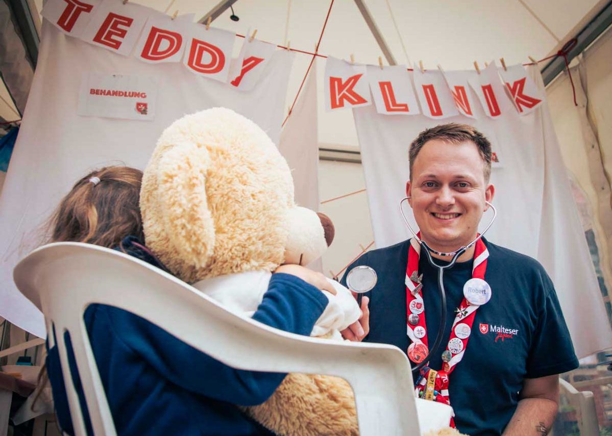
[[[133,254],[131,244],[124,247]],[[146,253],[135,251],[147,260]],[[326,305],[327,298],[314,286],[293,275],[274,274],[253,319],[308,335]],[[269,434],[236,404],[261,404],[286,374],[231,368],[118,308],[92,305],[84,321],[119,435]],[[206,335],[205,324],[193,328]],[[78,378],[69,357],[72,377]],[[56,347],[49,351],[47,367],[59,424],[73,434]],[[80,382],[76,384],[84,408]],[[92,434],[89,416],[85,418]]]

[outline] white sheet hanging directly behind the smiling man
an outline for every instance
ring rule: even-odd
[[[491,182],[496,187],[494,203],[498,219],[487,238],[536,258],[547,269],[578,357],[609,348],[612,330],[548,106],[540,104],[529,114],[519,114],[504,95],[498,75],[495,74],[496,82],[493,82],[488,74],[485,76],[487,71],[494,72],[494,66],[490,65],[480,75],[476,71],[468,72],[472,76],[470,83],[491,84],[494,93],[503,97],[498,99],[499,104],[506,104],[511,110],[501,106],[501,115],[491,119],[487,117],[491,114],[483,114],[483,108],[477,105],[472,107],[475,119],[458,115],[445,120],[475,126],[491,140],[501,161],[500,165],[493,165],[491,172]],[[529,67],[529,75],[542,92],[539,71]],[[424,115],[389,117],[377,114],[373,107],[354,109],[353,114],[376,246],[385,247],[410,237],[398,213],[398,204],[406,195],[409,178],[409,142],[420,131],[439,122]],[[416,227],[409,212],[408,215]],[[490,212],[485,213],[482,227],[490,217]]]

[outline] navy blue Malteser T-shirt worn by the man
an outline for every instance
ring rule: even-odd
[[[498,435],[517,408],[525,378],[561,374],[578,367],[553,283],[534,259],[485,241],[489,250],[485,280],[491,300],[480,307],[472,325],[463,360],[450,374],[450,404],[459,431],[470,435]],[[392,344],[406,352],[406,264],[409,241],[365,253],[357,265],[375,269],[378,283],[370,297],[367,342]],[[439,261],[443,264],[443,261]],[[441,354],[449,341],[455,308],[463,299],[463,285],[472,277],[472,260],[444,272],[447,294],[446,331],[430,366],[442,367]],[[419,259],[428,340],[433,346],[439,329],[441,302],[438,270],[425,255]],[[346,274],[341,283],[346,284]],[[416,378],[416,377],[415,377]]]

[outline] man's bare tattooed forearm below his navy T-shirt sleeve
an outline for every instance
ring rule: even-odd
[[[504,436],[548,434],[559,407],[559,375],[524,379],[520,398]]]

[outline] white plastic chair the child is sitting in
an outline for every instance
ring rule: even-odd
[[[420,434],[410,365],[397,347],[334,343],[273,329],[224,310],[147,263],[95,245],[58,242],[40,247],[15,267],[13,278],[45,314],[48,332],[54,325],[78,436],[86,431],[70,375],[65,332],[70,333],[94,433],[116,435],[83,321],[92,303],[141,316],[234,368],[342,377],[355,393],[360,434]],[[53,335],[49,336],[51,340]]]

